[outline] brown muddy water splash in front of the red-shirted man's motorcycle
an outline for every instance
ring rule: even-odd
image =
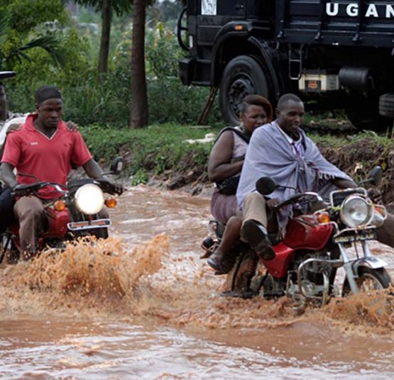
[[[157,235],[127,252],[120,240],[78,240],[63,252],[46,250],[32,262],[0,272],[0,311],[40,315],[71,311],[90,315],[135,303],[138,284],[157,272],[168,254],[169,238]]]

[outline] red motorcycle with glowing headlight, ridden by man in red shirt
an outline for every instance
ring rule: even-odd
[[[107,174],[119,174],[124,165],[122,157],[116,158],[111,164],[111,171]],[[113,184],[99,179],[73,179],[67,186],[55,182],[38,181],[33,184],[19,185],[11,196],[39,196],[40,189],[51,186],[60,196],[56,199],[43,199],[45,213],[48,220],[47,228],[40,233],[37,241],[38,251],[45,247],[64,249],[65,243],[83,236],[108,238],[108,228],[111,225],[109,218],[100,218],[99,212],[104,205],[107,208],[116,207],[116,199],[109,196],[104,199],[104,193],[116,194]],[[118,193],[119,194],[119,193]],[[119,194],[120,195],[120,194]],[[3,234],[0,244],[0,264],[8,254],[8,262],[15,263],[21,255],[21,242],[19,240],[19,225],[13,223]]]

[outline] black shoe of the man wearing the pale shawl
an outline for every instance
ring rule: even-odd
[[[272,260],[275,257],[275,251],[267,235],[267,230],[254,220],[246,220],[242,226],[242,234],[251,248],[263,260]]]

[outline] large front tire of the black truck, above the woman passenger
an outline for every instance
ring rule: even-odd
[[[220,84],[220,111],[229,125],[239,125],[239,105],[246,95],[268,99],[268,82],[263,67],[248,55],[233,58],[224,69]]]

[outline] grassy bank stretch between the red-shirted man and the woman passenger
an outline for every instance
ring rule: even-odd
[[[132,174],[133,184],[139,184],[169,169],[181,174],[193,170],[197,177],[201,175],[212,143],[189,144],[185,140],[204,138],[207,133],[217,134],[219,130],[170,123],[141,130],[92,125],[82,128],[82,135],[97,160],[110,162],[119,154],[126,157],[126,174]]]

